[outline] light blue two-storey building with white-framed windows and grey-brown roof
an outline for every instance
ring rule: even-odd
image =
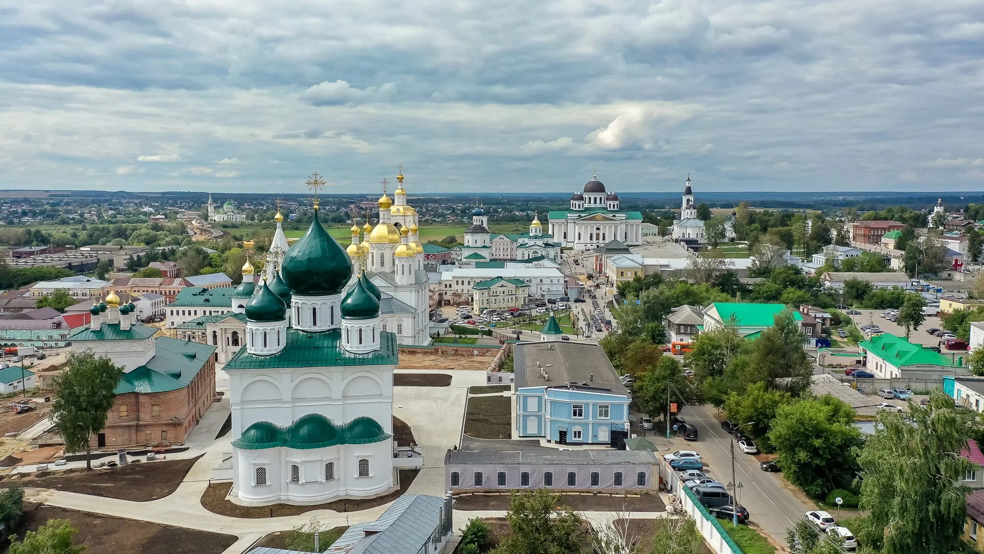
[[[517,438],[613,447],[628,438],[629,391],[601,347],[520,343],[515,372]]]

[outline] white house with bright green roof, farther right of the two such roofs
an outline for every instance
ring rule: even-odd
[[[963,357],[946,356],[904,338],[885,333],[858,343],[868,371],[881,379],[939,379],[967,375]]]

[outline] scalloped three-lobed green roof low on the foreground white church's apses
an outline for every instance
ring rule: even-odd
[[[357,417],[337,425],[321,414],[307,414],[287,427],[279,427],[269,421],[258,421],[243,431],[232,446],[240,450],[264,450],[286,447],[294,450],[311,450],[336,445],[368,445],[390,439],[383,427],[370,417]]]

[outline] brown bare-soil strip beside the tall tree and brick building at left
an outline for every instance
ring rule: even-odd
[[[198,461],[189,459],[166,459],[163,461],[144,461],[128,463],[114,469],[85,468],[61,471],[39,471],[29,476],[6,475],[0,487],[20,485],[69,491],[73,493],[147,502],[163,498],[175,490]]]

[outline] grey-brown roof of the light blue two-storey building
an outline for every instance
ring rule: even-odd
[[[540,369],[547,379],[540,377]],[[516,345],[515,387],[564,386],[569,382],[628,394],[615,368],[596,344],[567,340],[521,342]]]

